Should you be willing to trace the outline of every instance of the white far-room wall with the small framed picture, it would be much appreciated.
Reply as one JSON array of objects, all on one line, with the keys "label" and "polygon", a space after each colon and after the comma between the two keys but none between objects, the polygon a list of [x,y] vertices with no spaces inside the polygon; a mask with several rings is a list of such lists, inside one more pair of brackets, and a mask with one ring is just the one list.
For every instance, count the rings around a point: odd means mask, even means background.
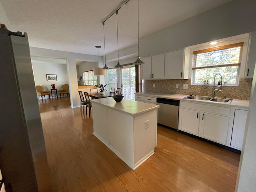
[{"label": "white far-room wall with the small framed picture", "polygon": [[[55,84],[57,90],[62,89],[62,85],[68,84],[68,71],[65,64],[38,63],[32,62],[34,79],[36,85],[41,85],[44,90],[51,90],[51,84]],[[57,75],[57,81],[47,81],[46,74]],[[52,92],[55,95],[55,92]],[[48,96],[46,96],[47,98]]]}]

